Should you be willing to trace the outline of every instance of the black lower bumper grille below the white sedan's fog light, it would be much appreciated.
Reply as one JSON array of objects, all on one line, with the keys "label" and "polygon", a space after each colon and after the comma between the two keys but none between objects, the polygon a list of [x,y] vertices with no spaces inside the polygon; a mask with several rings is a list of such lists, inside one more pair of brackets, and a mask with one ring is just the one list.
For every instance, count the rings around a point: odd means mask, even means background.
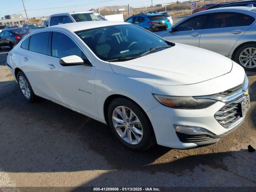
[{"label": "black lower bumper grille below the white sedan's fog light", "polygon": [[203,142],[213,139],[209,135],[205,134],[184,134],[176,132],[179,140],[184,143],[195,143],[195,142]]}]

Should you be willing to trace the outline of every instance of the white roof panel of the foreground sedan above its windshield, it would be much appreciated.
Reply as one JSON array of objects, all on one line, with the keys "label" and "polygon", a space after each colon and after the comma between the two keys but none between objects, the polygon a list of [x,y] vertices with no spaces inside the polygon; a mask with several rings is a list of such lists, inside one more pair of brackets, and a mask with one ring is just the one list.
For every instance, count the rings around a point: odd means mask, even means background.
[{"label": "white roof panel of the foreground sedan above its windshield", "polygon": [[118,21],[84,21],[84,22],[74,22],[74,23],[54,25],[44,29],[50,30],[50,29],[62,28],[62,29],[67,29],[72,32],[75,32],[75,31],[81,31],[86,29],[93,29],[93,28],[113,26],[113,25],[124,25],[124,24],[130,25],[130,23],[118,22]]}]

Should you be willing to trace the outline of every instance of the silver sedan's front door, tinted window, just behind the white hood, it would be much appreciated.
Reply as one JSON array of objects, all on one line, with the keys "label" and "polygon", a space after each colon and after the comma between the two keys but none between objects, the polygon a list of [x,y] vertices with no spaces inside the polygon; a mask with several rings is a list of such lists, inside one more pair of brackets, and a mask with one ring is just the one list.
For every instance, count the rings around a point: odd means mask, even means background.
[{"label": "silver sedan's front door, tinted window, just behind the white hood", "polygon": [[188,18],[184,22],[175,26],[172,31],[163,37],[172,42],[199,46],[199,39],[204,27],[208,24],[210,14],[201,14]]}]

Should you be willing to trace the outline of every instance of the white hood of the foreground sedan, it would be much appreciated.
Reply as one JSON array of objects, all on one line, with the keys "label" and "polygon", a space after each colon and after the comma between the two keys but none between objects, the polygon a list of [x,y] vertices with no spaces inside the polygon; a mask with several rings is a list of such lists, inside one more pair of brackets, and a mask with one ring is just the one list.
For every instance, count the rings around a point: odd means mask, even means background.
[{"label": "white hood of the foreground sedan", "polygon": [[210,80],[232,69],[232,61],[220,54],[178,44],[125,62],[110,62],[112,70],[128,78],[161,85],[186,85]]}]

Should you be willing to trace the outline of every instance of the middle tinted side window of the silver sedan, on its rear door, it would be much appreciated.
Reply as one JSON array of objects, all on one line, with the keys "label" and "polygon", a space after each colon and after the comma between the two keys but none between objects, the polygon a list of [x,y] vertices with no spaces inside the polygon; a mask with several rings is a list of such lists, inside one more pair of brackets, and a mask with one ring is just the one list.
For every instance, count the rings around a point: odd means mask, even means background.
[{"label": "middle tinted side window of the silver sedan, on its rear door", "polygon": [[235,19],[236,13],[233,12],[213,13],[208,28],[233,27]]}]

